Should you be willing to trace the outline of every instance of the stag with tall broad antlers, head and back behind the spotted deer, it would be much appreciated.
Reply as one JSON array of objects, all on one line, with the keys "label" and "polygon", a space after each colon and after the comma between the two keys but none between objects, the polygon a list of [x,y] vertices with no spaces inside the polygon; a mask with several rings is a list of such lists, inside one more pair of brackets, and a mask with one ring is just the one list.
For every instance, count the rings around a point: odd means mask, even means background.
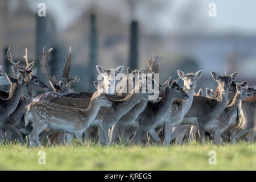
[{"label": "stag with tall broad antlers, head and back behind the spotted deer", "polygon": [[60,81],[57,80],[55,76],[52,77],[49,75],[47,60],[49,55],[51,54],[52,48],[50,48],[48,51],[45,51],[45,49],[46,47],[43,48],[43,53],[40,58],[40,67],[42,70],[42,74],[46,75],[47,78],[49,79],[49,84],[51,85],[54,92],[47,92],[44,94],[40,94],[38,97],[34,98],[33,101],[50,101],[57,97],[63,96],[64,94],[75,92],[73,90],[73,87],[76,86],[80,80],[80,78],[77,78],[77,76],[73,78],[69,78],[69,72],[71,69],[71,56],[72,56],[71,47],[69,47],[69,53],[68,53],[68,56],[66,57],[66,63],[63,69],[63,75],[61,76],[65,78],[67,84],[65,84],[61,80]]}]

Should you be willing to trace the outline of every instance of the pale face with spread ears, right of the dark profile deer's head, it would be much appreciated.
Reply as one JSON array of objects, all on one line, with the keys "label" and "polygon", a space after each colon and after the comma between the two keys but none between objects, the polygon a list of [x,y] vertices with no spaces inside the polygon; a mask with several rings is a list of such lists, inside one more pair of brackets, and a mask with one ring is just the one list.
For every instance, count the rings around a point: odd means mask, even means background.
[{"label": "pale face with spread ears, right of the dark profile deer's head", "polygon": [[184,81],[184,87],[187,90],[196,89],[196,82],[199,78],[201,78],[203,73],[204,73],[203,70],[196,72],[196,74],[194,73],[185,74],[183,71],[180,71],[180,70],[177,71],[177,74],[179,75],[179,77]]}]

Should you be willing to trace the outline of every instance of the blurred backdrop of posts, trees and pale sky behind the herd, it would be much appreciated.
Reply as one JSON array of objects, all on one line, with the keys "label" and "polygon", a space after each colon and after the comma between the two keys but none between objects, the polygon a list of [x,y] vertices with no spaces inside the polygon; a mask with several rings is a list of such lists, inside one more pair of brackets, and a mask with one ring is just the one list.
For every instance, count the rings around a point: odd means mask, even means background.
[{"label": "blurred backdrop of posts, trees and pale sky behind the herd", "polygon": [[[39,3],[46,17],[39,17]],[[209,3],[217,16],[210,17]],[[13,47],[13,59],[36,61],[42,48],[53,48],[51,75],[62,75],[65,57],[72,47],[70,77],[81,78],[77,92],[94,91],[96,64],[105,69],[147,68],[152,52],[163,55],[160,82],[177,78],[177,69],[204,75],[197,89],[213,88],[210,71],[233,73],[237,81],[256,85],[256,1],[247,0],[1,0],[0,64],[11,74],[5,52]],[[180,83],[182,85],[182,83]]]}]

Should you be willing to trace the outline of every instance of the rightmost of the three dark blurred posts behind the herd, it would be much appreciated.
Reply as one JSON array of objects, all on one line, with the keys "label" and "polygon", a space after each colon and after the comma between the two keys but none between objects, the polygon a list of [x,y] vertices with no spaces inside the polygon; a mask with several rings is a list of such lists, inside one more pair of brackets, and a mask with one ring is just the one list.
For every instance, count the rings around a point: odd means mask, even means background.
[{"label": "rightmost of the three dark blurred posts behind the herd", "polygon": [[130,54],[129,54],[129,67],[132,69],[137,69],[138,67],[138,34],[139,27],[138,22],[131,21],[130,27]]}]

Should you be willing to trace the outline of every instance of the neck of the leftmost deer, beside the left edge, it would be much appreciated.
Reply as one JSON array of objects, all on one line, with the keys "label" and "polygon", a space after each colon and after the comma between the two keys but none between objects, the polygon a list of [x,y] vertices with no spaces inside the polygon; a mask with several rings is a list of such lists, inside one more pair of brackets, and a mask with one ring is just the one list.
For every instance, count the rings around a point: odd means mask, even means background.
[{"label": "neck of the leftmost deer, beside the left edge", "polygon": [[22,93],[17,85],[11,85],[9,97],[5,100],[6,109],[8,113],[12,113],[19,104]]}]

